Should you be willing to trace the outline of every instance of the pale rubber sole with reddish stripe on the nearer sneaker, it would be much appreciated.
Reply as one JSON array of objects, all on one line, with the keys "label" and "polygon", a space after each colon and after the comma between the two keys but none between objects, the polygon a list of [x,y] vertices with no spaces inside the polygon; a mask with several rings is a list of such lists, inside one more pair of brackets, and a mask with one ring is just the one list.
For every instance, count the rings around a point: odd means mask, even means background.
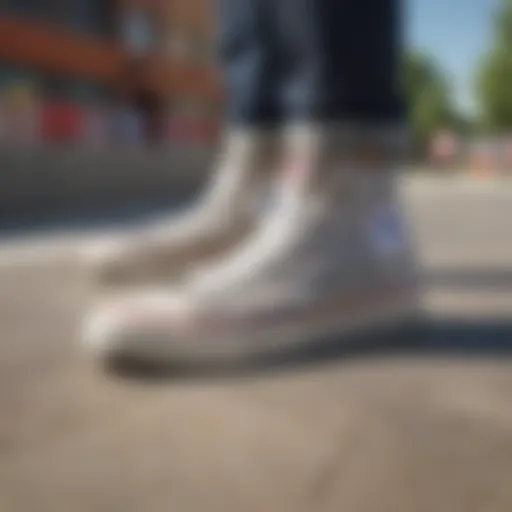
[{"label": "pale rubber sole with reddish stripe on the nearer sneaker", "polygon": [[112,334],[106,343],[88,345],[96,358],[125,359],[147,365],[224,364],[300,350],[324,339],[350,343],[360,335],[388,332],[420,318],[416,294],[412,290],[383,297],[360,297],[358,303],[345,302],[339,308],[315,308],[315,315],[297,312],[287,319],[255,321],[223,328],[204,327],[193,332],[167,329],[152,333]]}]

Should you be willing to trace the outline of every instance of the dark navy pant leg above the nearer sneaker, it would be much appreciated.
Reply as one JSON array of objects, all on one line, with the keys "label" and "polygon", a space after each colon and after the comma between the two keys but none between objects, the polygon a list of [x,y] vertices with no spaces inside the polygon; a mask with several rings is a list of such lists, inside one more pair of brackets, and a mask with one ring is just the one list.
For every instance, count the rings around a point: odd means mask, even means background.
[{"label": "dark navy pant leg above the nearer sneaker", "polygon": [[274,2],[285,53],[281,95],[289,119],[402,119],[401,0]]}]

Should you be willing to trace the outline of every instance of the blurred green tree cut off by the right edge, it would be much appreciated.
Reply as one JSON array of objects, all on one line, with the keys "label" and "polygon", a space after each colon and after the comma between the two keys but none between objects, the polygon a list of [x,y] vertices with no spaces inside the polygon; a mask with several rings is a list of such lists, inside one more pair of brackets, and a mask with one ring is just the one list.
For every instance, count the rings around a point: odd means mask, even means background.
[{"label": "blurred green tree cut off by the right edge", "polygon": [[490,133],[512,129],[512,0],[501,0],[494,41],[476,77],[482,128]]}]

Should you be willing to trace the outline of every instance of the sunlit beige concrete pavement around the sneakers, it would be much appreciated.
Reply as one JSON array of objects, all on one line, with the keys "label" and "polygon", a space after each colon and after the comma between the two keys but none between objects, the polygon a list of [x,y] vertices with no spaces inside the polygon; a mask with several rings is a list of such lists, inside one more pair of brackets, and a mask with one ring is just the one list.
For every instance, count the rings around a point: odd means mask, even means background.
[{"label": "sunlit beige concrete pavement around the sneakers", "polygon": [[428,355],[114,378],[73,345],[83,270],[4,247],[0,510],[510,512],[512,360],[443,346],[512,346],[512,188],[413,180],[404,196],[447,323]]}]

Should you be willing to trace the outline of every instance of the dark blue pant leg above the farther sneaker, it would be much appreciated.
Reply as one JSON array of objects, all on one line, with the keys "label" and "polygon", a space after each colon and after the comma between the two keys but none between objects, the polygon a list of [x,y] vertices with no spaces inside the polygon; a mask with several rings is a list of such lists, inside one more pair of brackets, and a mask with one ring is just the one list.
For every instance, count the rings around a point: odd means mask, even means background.
[{"label": "dark blue pant leg above the farther sneaker", "polygon": [[217,0],[219,50],[228,123],[273,126],[282,121],[274,3],[280,0]]}]

